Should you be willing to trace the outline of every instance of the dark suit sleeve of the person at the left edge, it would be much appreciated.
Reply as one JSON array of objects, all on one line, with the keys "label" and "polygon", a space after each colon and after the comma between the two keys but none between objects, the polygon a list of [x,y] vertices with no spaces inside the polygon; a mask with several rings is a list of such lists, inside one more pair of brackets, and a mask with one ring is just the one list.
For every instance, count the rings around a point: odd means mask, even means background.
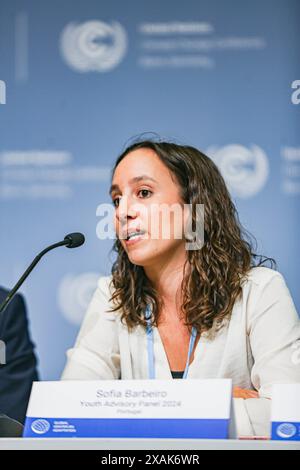
[{"label": "dark suit sleeve of the person at the left edge", "polygon": [[[7,291],[0,288],[0,304],[6,295]],[[0,314],[0,340],[2,346],[5,345],[6,356],[5,363],[0,364],[0,414],[23,423],[32,382],[38,380],[38,373],[26,306],[21,295],[16,295]]]}]

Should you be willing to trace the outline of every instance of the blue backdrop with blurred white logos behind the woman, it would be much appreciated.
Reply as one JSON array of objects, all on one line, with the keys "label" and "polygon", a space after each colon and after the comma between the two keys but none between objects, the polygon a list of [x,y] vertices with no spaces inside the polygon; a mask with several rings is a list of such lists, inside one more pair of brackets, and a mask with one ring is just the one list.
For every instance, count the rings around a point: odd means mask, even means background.
[{"label": "blue backdrop with blurred white logos behind the woman", "polygon": [[96,208],[142,132],[216,161],[300,310],[299,18],[298,0],[0,1],[0,283],[66,233],[87,238],[22,290],[43,379],[110,273]]}]

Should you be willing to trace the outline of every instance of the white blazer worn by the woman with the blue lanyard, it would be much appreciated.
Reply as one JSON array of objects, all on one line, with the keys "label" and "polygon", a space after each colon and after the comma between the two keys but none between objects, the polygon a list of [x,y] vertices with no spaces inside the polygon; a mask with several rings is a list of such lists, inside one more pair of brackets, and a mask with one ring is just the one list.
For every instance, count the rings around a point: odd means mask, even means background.
[{"label": "white blazer worn by the woman with the blue lanyard", "polygon": [[[146,332],[138,326],[130,333],[119,312],[107,312],[110,280],[99,279],[67,351],[63,380],[148,379]],[[172,380],[158,329],[153,333],[156,378]],[[299,339],[299,317],[283,276],[252,268],[229,324],[214,339],[201,336],[187,379],[231,378],[234,386],[257,390],[260,398],[234,399],[238,435],[269,435],[272,384],[300,382]]]}]

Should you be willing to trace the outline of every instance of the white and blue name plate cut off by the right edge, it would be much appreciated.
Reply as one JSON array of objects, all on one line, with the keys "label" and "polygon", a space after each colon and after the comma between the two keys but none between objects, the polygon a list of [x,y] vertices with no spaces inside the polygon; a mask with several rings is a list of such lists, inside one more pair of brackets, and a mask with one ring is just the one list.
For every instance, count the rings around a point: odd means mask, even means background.
[{"label": "white and blue name plate cut off by the right edge", "polygon": [[272,387],[272,439],[300,441],[300,383]]}]

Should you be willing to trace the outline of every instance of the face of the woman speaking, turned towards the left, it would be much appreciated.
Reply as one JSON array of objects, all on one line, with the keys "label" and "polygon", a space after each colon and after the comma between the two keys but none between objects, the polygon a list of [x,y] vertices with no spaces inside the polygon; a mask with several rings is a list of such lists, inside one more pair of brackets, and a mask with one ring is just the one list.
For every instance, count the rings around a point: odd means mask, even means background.
[{"label": "face of the woman speaking, turned towards the left", "polygon": [[[180,187],[153,150],[137,149],[123,158],[113,175],[111,197],[116,235],[133,264],[146,267],[174,256],[179,261],[179,253],[185,256]],[[141,234],[127,241],[136,231]]]}]

